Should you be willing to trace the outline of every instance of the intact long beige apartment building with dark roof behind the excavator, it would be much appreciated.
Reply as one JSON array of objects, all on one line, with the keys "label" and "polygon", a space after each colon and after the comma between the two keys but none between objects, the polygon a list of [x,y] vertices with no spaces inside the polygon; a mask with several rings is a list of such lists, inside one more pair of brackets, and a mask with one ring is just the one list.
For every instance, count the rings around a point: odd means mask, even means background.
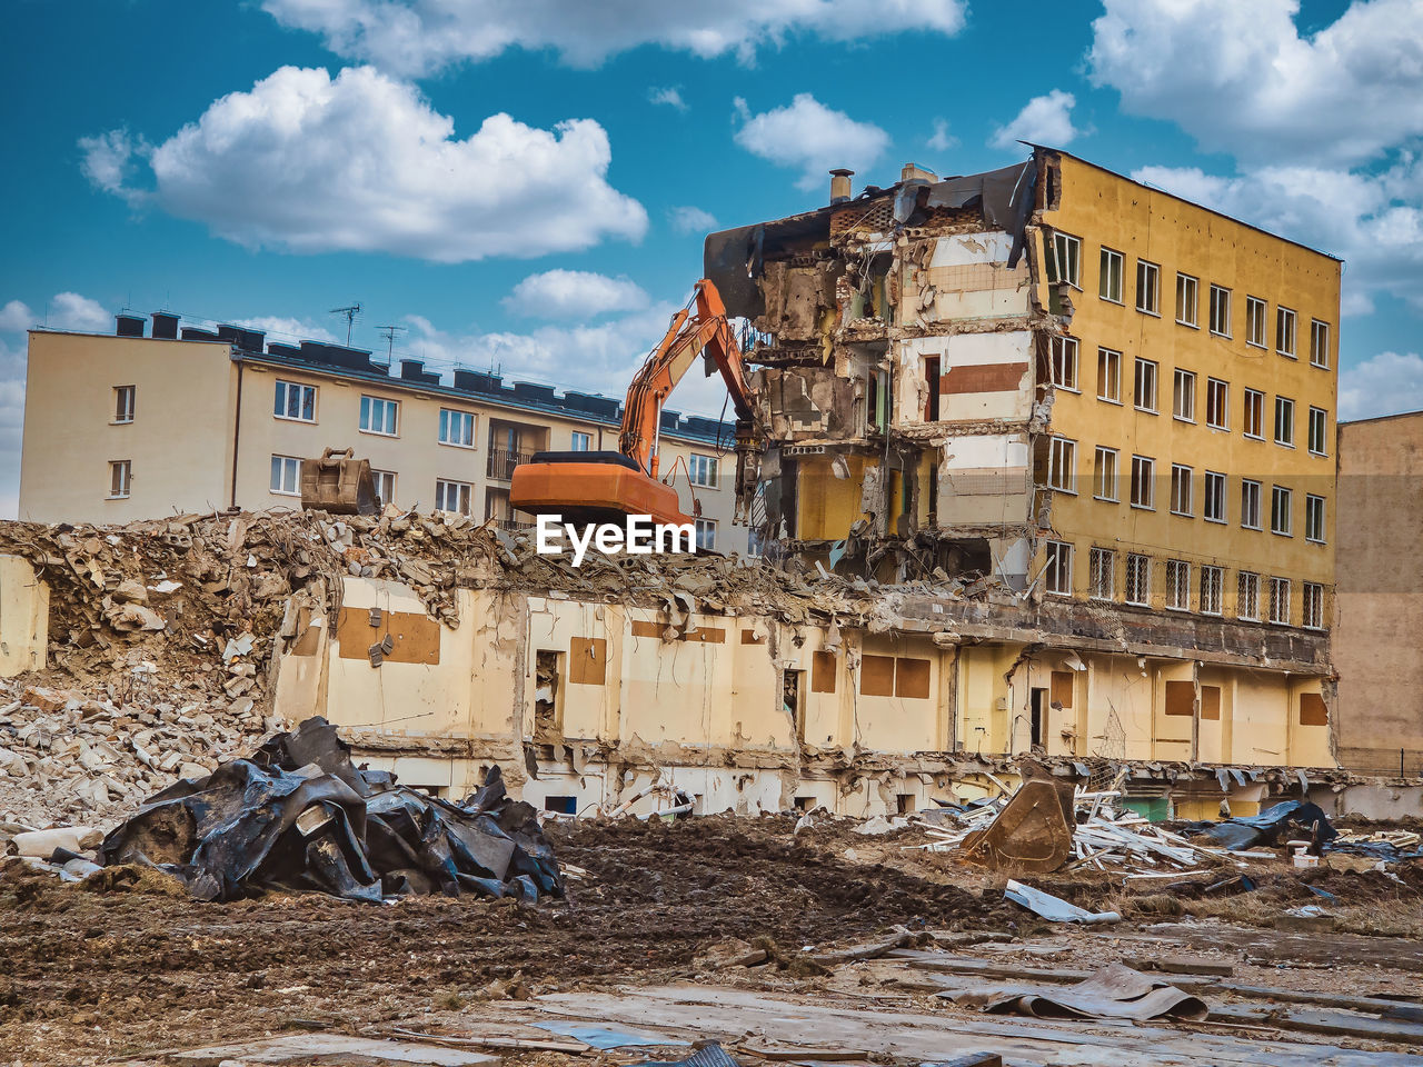
[{"label": "intact long beige apartment building with dark roof behind the excavator", "polygon": [[[471,370],[447,380],[418,360],[387,367],[359,349],[168,313],[145,327],[121,314],[114,334],[30,333],[21,519],[300,508],[302,460],[350,447],[370,460],[383,501],[515,528],[531,521],[509,506],[519,462],[616,448],[622,407],[609,397]],[[733,445],[730,424],[662,414],[662,471],[699,542],[744,552]]]}]

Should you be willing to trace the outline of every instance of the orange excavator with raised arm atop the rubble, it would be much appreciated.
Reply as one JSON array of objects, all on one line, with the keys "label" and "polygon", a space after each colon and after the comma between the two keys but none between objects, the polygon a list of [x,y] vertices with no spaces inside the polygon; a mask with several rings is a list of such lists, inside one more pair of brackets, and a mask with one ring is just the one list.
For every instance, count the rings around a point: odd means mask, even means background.
[{"label": "orange excavator with raised arm atop the rubble", "polygon": [[672,316],[667,333],[628,387],[618,451],[535,452],[514,468],[509,504],[535,515],[559,514],[572,522],[622,522],[650,515],[655,522],[692,522],[677,491],[657,479],[662,405],[699,354],[721,371],[736,408],[736,499],[741,518],[756,491],[763,451],[756,407],[746,384],[741,349],[726,306],[710,280]]}]

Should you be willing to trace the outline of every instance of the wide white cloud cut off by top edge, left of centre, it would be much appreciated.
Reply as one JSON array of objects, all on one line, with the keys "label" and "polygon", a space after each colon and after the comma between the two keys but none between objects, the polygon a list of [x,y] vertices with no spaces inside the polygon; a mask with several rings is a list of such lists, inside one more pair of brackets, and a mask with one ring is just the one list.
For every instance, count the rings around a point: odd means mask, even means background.
[{"label": "wide white cloud cut off by top edge, left of centre", "polygon": [[965,16],[963,0],[262,0],[262,7],[283,26],[320,34],[339,55],[413,75],[509,48],[551,48],[578,67],[645,44],[751,63],[760,46],[797,34],[952,36]]}]

